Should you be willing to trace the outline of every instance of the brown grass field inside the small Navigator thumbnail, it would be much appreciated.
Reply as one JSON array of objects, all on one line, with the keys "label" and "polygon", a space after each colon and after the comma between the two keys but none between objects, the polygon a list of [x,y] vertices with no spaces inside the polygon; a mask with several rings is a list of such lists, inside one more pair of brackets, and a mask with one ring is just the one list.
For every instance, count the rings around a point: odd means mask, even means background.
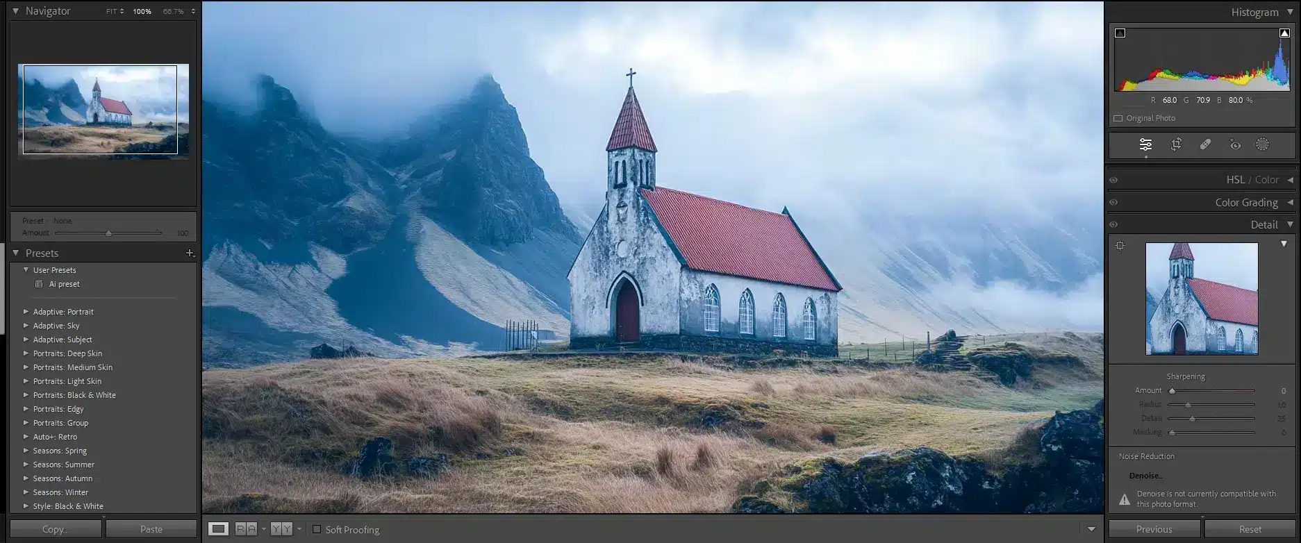
[{"label": "brown grass field inside the small Navigator thumbnail", "polygon": [[[189,123],[181,123],[181,134]],[[174,123],[154,126],[86,126],[55,125],[18,129],[18,142],[23,153],[112,153],[133,143],[159,143],[176,134]]]}]

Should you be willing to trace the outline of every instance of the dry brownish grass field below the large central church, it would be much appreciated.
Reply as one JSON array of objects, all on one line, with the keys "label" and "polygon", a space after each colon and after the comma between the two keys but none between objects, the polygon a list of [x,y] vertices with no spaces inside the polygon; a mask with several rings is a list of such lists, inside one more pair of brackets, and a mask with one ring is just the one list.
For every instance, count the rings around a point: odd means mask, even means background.
[{"label": "dry brownish grass field below the large central church", "polygon": [[[928,446],[997,464],[1033,421],[1101,398],[1097,364],[1037,369],[1017,387],[835,360],[739,369],[658,355],[208,370],[204,509],[721,512],[738,488],[801,459]],[[453,468],[433,479],[341,475],[375,436],[392,438],[398,457],[449,453]]]}]

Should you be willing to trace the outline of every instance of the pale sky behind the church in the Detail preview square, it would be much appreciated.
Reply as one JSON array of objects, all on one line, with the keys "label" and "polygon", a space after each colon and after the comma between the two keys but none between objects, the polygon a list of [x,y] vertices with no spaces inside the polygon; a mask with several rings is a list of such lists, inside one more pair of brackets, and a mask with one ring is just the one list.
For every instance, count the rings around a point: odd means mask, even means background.
[{"label": "pale sky behind the church in the Detail preview square", "polygon": [[[1189,243],[1193,249],[1193,277],[1257,290],[1255,243]],[[1160,300],[1170,283],[1170,251],[1174,243],[1147,244],[1147,291]]]}]

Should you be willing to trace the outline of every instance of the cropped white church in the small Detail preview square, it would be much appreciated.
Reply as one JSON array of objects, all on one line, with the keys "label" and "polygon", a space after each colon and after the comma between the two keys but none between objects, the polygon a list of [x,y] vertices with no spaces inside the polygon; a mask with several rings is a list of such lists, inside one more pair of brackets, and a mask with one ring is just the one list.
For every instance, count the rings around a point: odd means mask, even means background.
[{"label": "cropped white church in the small Detail preview square", "polygon": [[1253,290],[1194,275],[1193,249],[1170,251],[1170,282],[1151,316],[1151,355],[1255,355],[1257,295]]}]

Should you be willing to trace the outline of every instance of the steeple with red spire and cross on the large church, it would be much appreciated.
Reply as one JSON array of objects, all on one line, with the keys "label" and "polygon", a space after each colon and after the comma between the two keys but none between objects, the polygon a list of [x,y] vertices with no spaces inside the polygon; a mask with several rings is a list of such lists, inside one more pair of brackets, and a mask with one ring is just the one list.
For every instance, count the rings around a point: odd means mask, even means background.
[{"label": "steeple with red spire and cross on the large church", "polygon": [[636,71],[628,69],[628,94],[623,96],[623,107],[619,117],[614,121],[614,130],[610,131],[610,142],[605,145],[606,153],[606,183],[608,190],[623,187],[654,188],[654,138],[650,138],[650,127],[641,113],[641,103],[632,90],[632,75]]}]

